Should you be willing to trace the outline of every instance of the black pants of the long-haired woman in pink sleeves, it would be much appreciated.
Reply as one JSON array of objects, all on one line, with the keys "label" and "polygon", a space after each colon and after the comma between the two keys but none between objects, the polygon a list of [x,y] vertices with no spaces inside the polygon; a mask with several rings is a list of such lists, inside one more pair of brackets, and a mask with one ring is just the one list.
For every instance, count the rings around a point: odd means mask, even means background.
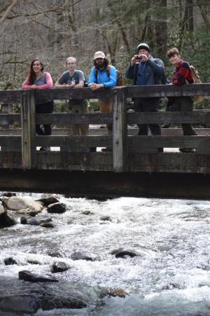
[{"label": "black pants of the long-haired woman in pink sleeves", "polygon": [[[37,114],[48,114],[53,111],[54,102],[49,101],[42,104],[36,104]],[[36,124],[36,134],[38,135],[51,135],[52,129],[50,124],[44,124],[41,128],[40,124]]]}]

